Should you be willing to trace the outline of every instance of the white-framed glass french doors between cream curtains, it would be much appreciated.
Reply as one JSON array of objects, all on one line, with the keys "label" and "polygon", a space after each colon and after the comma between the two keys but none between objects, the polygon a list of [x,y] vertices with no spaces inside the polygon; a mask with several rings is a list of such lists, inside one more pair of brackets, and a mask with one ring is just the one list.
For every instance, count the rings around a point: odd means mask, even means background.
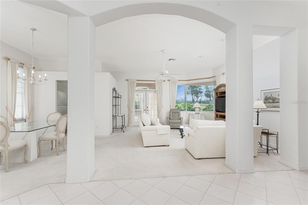
[{"label": "white-framed glass french doors between cream curtains", "polygon": [[136,91],[134,126],[139,125],[140,115],[144,112],[152,116],[152,118],[157,118],[158,111],[156,91]]}]

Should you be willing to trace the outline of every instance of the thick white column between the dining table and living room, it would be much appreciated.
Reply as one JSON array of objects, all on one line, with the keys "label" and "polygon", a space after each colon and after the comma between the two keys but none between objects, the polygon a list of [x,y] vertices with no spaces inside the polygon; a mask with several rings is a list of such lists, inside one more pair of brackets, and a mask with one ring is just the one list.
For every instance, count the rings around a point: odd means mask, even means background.
[{"label": "thick white column between the dining table and living room", "polygon": [[95,26],[68,16],[66,183],[88,182],[94,167]]}]

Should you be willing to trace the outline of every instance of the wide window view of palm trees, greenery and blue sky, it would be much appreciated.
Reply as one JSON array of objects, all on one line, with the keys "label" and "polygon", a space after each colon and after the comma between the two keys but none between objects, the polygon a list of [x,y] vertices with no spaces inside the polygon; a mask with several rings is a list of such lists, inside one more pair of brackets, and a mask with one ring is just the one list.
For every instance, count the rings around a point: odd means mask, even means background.
[{"label": "wide window view of palm trees, greenery and blue sky", "polygon": [[200,111],[214,111],[214,88],[215,86],[178,85],[175,108],[181,111],[195,111],[193,105],[199,102]]}]

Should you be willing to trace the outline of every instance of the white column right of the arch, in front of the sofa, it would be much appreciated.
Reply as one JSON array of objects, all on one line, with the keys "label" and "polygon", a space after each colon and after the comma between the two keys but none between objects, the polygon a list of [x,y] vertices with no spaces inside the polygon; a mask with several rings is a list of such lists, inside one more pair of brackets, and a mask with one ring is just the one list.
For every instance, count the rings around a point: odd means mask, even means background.
[{"label": "white column right of the arch, in front of the sofa", "polygon": [[237,25],[226,34],[226,158],[236,173],[253,169],[252,25]]}]

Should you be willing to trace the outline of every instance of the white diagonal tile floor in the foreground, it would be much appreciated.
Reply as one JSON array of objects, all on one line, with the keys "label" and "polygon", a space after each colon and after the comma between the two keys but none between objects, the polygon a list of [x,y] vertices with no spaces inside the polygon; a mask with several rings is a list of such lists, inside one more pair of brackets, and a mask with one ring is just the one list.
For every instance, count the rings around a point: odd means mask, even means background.
[{"label": "white diagonal tile floor in the foreground", "polygon": [[308,171],[48,184],[1,204],[308,204]]}]

